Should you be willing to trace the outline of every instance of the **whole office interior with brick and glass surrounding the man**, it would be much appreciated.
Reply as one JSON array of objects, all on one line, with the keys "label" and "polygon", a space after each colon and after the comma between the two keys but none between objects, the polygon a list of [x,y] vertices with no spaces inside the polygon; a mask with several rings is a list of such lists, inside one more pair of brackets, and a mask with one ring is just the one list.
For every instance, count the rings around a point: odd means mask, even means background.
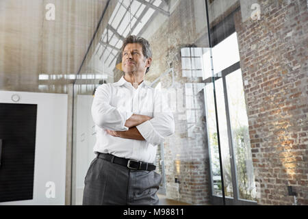
[{"label": "whole office interior with brick and glass surrounding the man", "polygon": [[129,35],[175,133],[159,205],[308,205],[307,0],[1,0],[0,205],[82,205]]}]

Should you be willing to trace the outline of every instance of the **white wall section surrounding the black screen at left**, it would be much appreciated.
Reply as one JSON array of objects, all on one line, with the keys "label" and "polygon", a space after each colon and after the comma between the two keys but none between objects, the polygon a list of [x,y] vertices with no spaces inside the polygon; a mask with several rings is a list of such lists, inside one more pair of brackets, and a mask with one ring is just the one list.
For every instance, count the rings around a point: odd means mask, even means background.
[{"label": "white wall section surrounding the black screen at left", "polygon": [[[34,163],[34,194],[32,200],[11,201],[0,205],[64,205],[66,174],[67,94],[12,92],[0,90],[0,103],[37,104],[36,150]],[[47,183],[52,182],[49,187]],[[53,185],[55,185],[53,187]],[[54,198],[47,197],[52,194]]]}]

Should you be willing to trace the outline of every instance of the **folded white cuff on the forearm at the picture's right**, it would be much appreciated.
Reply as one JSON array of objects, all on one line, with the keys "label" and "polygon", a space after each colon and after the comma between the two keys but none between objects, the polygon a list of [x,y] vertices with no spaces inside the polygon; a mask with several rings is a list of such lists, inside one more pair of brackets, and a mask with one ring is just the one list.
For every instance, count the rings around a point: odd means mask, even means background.
[{"label": "folded white cuff on the forearm at the picture's right", "polygon": [[147,120],[146,122],[137,125],[136,128],[146,142],[149,142],[150,144],[161,144],[165,140],[165,138],[154,129],[151,120]]}]

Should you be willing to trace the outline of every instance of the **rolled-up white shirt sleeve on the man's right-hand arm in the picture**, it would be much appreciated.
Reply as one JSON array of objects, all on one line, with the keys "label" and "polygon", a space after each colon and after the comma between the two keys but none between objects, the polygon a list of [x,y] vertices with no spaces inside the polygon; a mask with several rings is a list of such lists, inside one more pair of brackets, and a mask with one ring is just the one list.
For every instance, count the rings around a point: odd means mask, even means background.
[{"label": "rolled-up white shirt sleeve on the man's right-hand arm in the picture", "polygon": [[175,133],[175,120],[161,92],[155,92],[153,118],[136,126],[142,137],[150,144],[164,142],[165,137]]}]

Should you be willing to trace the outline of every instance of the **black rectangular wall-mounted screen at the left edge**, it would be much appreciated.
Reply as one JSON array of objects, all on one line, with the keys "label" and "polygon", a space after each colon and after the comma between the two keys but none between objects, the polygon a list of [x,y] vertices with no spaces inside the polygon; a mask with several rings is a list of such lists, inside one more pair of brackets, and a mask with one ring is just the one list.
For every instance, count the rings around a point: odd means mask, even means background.
[{"label": "black rectangular wall-mounted screen at the left edge", "polygon": [[33,199],[37,108],[0,103],[0,202]]}]

